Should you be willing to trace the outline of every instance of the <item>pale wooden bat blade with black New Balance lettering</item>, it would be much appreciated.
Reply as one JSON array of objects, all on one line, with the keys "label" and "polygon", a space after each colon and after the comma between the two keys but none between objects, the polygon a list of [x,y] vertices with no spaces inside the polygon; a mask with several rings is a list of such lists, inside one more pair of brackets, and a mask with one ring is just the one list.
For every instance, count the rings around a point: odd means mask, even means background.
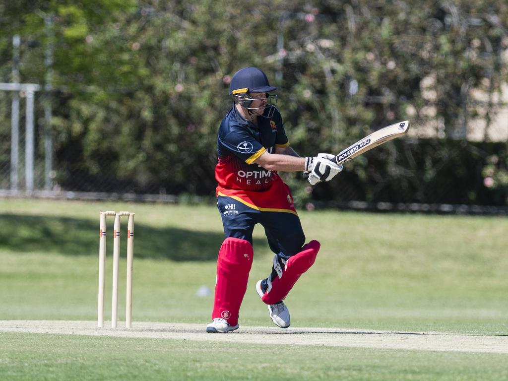
[{"label": "pale wooden bat blade with black New Balance lettering", "polygon": [[335,162],[339,165],[348,162],[356,156],[370,151],[372,148],[404,135],[407,133],[407,130],[409,130],[409,120],[397,122],[377,130],[342,150],[335,156]]}]

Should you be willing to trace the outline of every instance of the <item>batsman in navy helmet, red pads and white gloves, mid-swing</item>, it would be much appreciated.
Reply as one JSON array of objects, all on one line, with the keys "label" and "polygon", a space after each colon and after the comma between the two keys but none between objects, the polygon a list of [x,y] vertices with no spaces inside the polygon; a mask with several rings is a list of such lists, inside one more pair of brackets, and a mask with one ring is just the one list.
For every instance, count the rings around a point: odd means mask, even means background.
[{"label": "batsman in navy helmet, red pads and white gloves, mid-swing", "polygon": [[342,166],[329,160],[333,154],[301,157],[291,148],[275,107],[277,96],[271,94],[276,89],[258,68],[243,68],[231,80],[233,106],[218,129],[215,167],[217,207],[226,239],[218,252],[212,322],[207,332],[226,333],[239,327],[256,224],[265,229],[275,253],[271,271],[256,283],[256,292],[280,328],[291,324],[284,298],[312,266],[320,249],[315,240],[305,244],[290,189],[277,172],[303,171],[315,185],[331,180]]}]

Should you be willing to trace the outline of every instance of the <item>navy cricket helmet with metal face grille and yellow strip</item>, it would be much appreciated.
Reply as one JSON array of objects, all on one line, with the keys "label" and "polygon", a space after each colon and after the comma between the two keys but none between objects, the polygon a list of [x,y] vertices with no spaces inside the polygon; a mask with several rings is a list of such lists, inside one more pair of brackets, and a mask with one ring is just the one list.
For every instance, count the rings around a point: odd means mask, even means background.
[{"label": "navy cricket helmet with metal face grille and yellow strip", "polygon": [[[270,85],[266,74],[262,70],[248,67],[240,69],[235,73],[231,79],[229,94],[233,96],[235,103],[240,104],[247,110],[267,108],[268,110],[265,110],[263,116],[270,118],[275,111],[277,96],[271,95],[268,92],[276,89],[277,87]],[[252,98],[252,92],[264,92],[266,93],[266,98]],[[252,102],[256,100],[266,100],[266,103],[262,107],[250,107]]]}]

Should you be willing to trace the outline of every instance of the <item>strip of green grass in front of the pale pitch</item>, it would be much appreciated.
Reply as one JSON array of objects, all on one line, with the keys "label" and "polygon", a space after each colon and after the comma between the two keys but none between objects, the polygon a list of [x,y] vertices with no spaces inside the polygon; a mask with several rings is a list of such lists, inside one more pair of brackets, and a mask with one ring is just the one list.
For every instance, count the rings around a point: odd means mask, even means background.
[{"label": "strip of green grass in front of the pale pitch", "polygon": [[3,379],[504,380],[506,355],[0,334]]}]

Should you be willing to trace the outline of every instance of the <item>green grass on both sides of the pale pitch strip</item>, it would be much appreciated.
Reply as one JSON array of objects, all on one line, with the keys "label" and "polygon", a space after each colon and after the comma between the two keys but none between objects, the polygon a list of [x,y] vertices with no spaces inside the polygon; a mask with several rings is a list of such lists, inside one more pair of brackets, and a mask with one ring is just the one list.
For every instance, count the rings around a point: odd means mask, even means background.
[{"label": "green grass on both sides of the pale pitch strip", "polygon": [[[97,318],[99,211],[106,209],[136,212],[133,320],[204,328],[213,296],[197,291],[213,290],[223,241],[214,205],[0,199],[0,320]],[[343,211],[302,211],[300,217],[307,240],[321,241],[322,249],[286,300],[292,327],[508,334],[505,217]],[[106,320],[112,221],[108,229]],[[123,257],[125,231],[126,220]],[[253,289],[273,256],[261,227],[254,249],[240,327],[271,326]],[[124,260],[120,266],[122,320]],[[508,362],[494,354],[63,335],[0,333],[0,342],[7,343],[0,345],[0,374],[7,379],[143,379],[145,364],[151,373],[144,379],[271,379],[279,366],[274,379],[499,380],[507,377],[500,364]],[[33,369],[39,377],[30,376]]]}]

